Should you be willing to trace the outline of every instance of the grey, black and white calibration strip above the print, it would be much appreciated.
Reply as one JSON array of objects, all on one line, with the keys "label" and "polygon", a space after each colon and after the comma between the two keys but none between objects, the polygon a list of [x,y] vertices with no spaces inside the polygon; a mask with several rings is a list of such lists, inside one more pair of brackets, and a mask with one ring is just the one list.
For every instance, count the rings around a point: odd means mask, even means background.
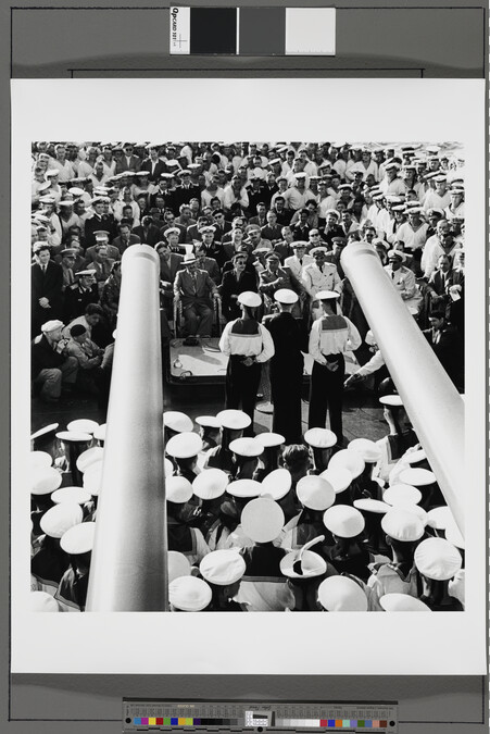
[{"label": "grey, black and white calibration strip above the print", "polygon": [[335,55],[335,8],[171,7],[177,55]]}]

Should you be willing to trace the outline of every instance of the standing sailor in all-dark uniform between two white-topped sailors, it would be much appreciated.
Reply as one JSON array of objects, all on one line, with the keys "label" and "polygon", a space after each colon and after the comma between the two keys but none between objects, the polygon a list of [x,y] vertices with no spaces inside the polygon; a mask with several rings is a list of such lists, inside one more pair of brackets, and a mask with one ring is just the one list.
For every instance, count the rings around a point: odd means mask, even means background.
[{"label": "standing sailor in all-dark uniform between two white-topped sailors", "polygon": [[275,290],[274,300],[279,307],[279,313],[264,316],[262,322],[274,343],[274,356],[269,363],[273,431],[281,434],[287,445],[299,444],[302,434],[302,352],[307,349],[307,334],[304,322],[292,314],[298,294],[292,289],[279,288]]}]

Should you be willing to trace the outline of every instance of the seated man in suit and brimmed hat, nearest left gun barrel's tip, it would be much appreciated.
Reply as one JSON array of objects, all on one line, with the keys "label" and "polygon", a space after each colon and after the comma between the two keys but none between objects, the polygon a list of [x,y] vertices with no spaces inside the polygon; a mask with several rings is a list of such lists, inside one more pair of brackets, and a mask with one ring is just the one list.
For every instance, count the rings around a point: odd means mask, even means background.
[{"label": "seated man in suit and brimmed hat, nearest left gun barrel's tip", "polygon": [[196,346],[197,334],[201,336],[211,336],[213,326],[213,302],[212,298],[217,298],[217,288],[211,279],[209,273],[198,270],[198,263],[193,254],[186,254],[184,258],[185,270],[177,273],[174,283],[175,301],[181,301],[185,329],[187,338],[186,346]]}]

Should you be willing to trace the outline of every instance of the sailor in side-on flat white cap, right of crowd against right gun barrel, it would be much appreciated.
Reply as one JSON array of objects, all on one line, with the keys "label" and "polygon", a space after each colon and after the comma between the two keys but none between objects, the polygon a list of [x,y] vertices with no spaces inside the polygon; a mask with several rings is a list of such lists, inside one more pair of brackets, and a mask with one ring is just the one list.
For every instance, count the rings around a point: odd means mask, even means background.
[{"label": "sailor in side-on flat white cap, right of crowd against right gun barrel", "polygon": [[[407,415],[399,395],[384,395],[379,398],[379,402],[382,405],[382,415],[390,433],[376,441],[381,451],[376,474],[382,482],[388,482],[394,464],[410,447],[418,443],[418,438],[412,425],[406,426]],[[405,424],[404,430],[403,424]]]}]

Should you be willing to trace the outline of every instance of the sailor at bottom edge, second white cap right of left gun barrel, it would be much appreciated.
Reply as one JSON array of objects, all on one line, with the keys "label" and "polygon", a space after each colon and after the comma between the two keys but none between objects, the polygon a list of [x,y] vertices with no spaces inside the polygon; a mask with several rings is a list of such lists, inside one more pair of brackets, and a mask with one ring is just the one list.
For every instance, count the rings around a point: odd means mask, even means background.
[{"label": "sailor at bottom edge, second white cap right of left gun barrel", "polygon": [[213,593],[211,611],[242,611],[235,597],[246,568],[243,557],[235,548],[213,550],[201,561],[199,571]]}]

